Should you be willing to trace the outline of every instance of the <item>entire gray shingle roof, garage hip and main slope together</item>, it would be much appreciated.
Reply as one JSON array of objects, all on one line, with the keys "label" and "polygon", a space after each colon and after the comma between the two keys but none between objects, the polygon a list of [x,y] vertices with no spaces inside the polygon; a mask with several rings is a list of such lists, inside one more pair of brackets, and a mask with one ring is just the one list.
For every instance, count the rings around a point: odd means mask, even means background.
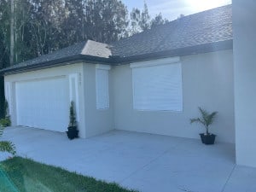
[{"label": "entire gray shingle roof, garage hip and main slope together", "polygon": [[[203,47],[206,44],[209,48],[209,44],[210,47],[213,47],[213,44],[216,43],[232,41],[232,38],[232,5],[227,5],[195,15],[184,16],[112,44],[102,44],[90,40],[74,44],[51,54],[5,68],[0,73],[24,70],[29,67],[46,67],[65,61],[87,60],[88,58],[90,61],[102,59],[115,64],[114,62],[120,62],[122,58],[128,60],[136,56],[142,58],[143,55],[157,55],[157,53],[166,53],[166,51],[179,50],[176,51],[176,55],[185,55],[190,52],[182,54],[181,51],[184,51],[184,48],[197,47],[196,49],[198,49],[198,46]],[[232,48],[230,44],[224,46]],[[216,47],[219,49],[218,46]],[[120,59],[114,60],[113,58]]]}]

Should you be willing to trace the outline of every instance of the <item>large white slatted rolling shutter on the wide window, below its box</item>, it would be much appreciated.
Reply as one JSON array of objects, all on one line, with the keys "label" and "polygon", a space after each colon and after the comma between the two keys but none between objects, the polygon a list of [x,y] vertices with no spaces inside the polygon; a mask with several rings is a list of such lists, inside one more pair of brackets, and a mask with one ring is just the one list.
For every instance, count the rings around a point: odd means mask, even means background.
[{"label": "large white slatted rolling shutter on the wide window, below its box", "polygon": [[132,67],[133,107],[183,111],[181,63]]}]

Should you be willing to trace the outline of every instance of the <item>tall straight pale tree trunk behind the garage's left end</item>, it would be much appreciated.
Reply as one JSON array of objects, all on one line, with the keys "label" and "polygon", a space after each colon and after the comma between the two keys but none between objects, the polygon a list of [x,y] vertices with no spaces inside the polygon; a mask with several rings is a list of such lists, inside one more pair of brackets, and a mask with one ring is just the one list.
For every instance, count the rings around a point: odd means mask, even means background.
[{"label": "tall straight pale tree trunk behind the garage's left end", "polygon": [[15,55],[15,0],[10,0],[10,45],[9,45],[9,65],[14,65]]}]

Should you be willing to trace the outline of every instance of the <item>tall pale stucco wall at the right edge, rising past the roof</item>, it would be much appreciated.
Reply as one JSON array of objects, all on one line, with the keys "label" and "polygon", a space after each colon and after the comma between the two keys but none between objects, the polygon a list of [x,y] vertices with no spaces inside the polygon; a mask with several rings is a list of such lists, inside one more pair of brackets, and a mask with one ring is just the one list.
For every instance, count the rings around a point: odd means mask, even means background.
[{"label": "tall pale stucco wall at the right edge, rising past the roof", "polygon": [[233,0],[236,163],[256,167],[256,2]]}]

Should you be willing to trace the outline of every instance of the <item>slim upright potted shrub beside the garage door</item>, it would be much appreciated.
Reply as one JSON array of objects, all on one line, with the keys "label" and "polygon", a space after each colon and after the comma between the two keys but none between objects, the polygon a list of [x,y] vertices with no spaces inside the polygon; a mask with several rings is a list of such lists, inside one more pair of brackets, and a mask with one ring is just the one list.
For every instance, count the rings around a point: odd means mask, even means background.
[{"label": "slim upright potted shrub beside the garage door", "polygon": [[67,127],[67,137],[69,139],[74,139],[74,138],[79,137],[79,131],[78,131],[78,127],[77,127],[76,115],[75,115],[75,110],[74,110],[74,102],[70,103],[69,125]]}]

